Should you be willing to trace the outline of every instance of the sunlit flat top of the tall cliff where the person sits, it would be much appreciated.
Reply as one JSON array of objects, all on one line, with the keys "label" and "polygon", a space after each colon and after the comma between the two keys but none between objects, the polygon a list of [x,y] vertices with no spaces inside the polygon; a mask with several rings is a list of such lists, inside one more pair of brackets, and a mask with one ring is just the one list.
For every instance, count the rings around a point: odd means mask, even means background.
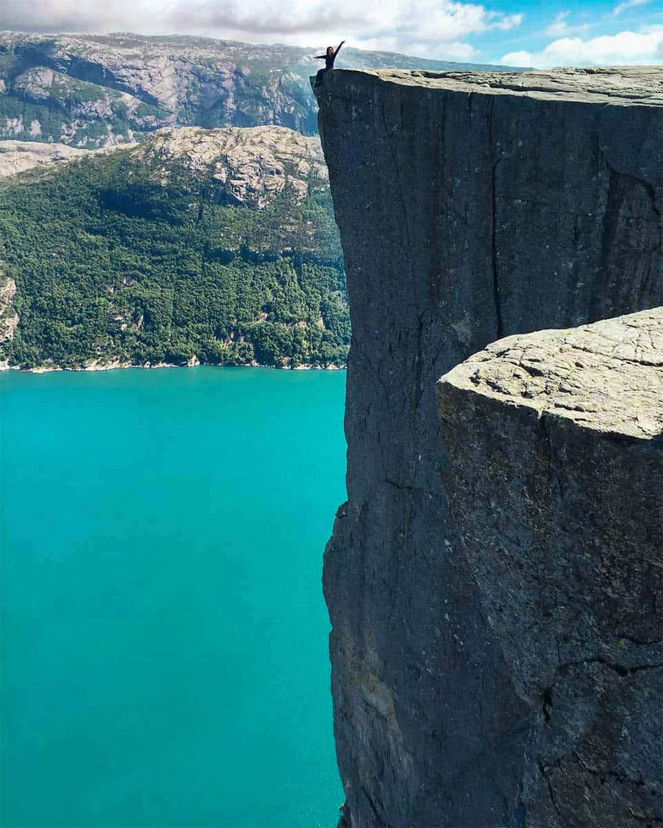
[{"label": "sunlit flat top of the tall cliff where the person sits", "polygon": [[[358,70],[338,70],[340,73]],[[663,107],[663,66],[608,66],[526,72],[426,72],[362,70],[392,84],[484,94],[521,94],[539,99]]]}]

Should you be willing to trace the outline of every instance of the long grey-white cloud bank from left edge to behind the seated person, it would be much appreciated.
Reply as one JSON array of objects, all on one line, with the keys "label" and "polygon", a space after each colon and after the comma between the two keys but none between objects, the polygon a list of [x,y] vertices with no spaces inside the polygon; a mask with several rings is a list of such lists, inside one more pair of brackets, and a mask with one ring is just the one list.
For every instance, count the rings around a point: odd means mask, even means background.
[{"label": "long grey-white cloud bank from left edge to behind the seated person", "polygon": [[519,26],[521,14],[466,0],[0,0],[0,29],[198,34],[348,46],[468,60],[468,36]]}]

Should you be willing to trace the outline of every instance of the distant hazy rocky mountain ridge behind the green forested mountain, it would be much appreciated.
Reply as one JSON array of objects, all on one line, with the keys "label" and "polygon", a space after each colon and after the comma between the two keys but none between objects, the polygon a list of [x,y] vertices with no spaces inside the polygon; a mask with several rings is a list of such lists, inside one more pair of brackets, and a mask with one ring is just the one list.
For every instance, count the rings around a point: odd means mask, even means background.
[{"label": "distant hazy rocky mountain ridge behind the green forested mountain", "polygon": [[[319,68],[313,54],[204,37],[0,32],[0,138],[94,148],[165,126],[262,124],[312,135],[309,77]],[[489,68],[345,47],[338,65]]]}]

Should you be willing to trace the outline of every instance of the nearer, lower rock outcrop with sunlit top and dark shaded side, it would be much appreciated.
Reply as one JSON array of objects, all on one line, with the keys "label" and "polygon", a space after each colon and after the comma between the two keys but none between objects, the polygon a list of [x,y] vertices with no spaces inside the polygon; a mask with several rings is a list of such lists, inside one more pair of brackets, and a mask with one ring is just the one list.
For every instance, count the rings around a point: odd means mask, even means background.
[{"label": "nearer, lower rock outcrop with sunlit top and dark shaded side", "polygon": [[524,824],[655,825],[663,309],[501,339],[437,397],[454,561],[529,716]]}]

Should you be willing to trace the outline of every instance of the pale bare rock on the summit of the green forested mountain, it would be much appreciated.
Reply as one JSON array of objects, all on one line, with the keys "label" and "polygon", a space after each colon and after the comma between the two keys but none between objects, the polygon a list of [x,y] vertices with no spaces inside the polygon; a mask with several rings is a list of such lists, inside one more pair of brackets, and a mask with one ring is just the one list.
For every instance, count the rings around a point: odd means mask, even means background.
[{"label": "pale bare rock on the summit of the green forested mountain", "polygon": [[173,161],[194,176],[209,172],[238,203],[250,198],[259,207],[286,189],[301,200],[311,180],[327,184],[319,138],[285,127],[162,129],[136,154],[166,177]]}]

